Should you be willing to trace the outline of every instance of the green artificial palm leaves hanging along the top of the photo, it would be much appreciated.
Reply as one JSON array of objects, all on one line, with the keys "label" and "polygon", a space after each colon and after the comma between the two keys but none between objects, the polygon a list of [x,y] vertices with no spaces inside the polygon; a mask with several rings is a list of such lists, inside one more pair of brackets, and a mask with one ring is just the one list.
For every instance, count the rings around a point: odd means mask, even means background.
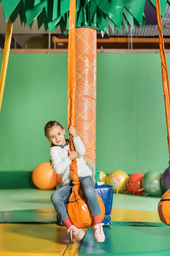
[{"label": "green artificial palm leaves hanging along the top of the photo", "polygon": [[[68,33],[68,18],[70,0],[0,0],[6,21],[11,17],[14,22],[20,16],[21,24],[32,26],[37,19],[38,28],[42,25],[45,31],[57,29]],[[155,7],[155,0],[149,0]],[[164,17],[167,3],[170,0],[161,0],[161,15]],[[77,0],[76,26],[88,26],[98,29],[102,35],[105,31],[109,35],[109,26],[121,32],[122,24],[128,29],[128,23],[134,29],[144,26],[145,0]]]}]

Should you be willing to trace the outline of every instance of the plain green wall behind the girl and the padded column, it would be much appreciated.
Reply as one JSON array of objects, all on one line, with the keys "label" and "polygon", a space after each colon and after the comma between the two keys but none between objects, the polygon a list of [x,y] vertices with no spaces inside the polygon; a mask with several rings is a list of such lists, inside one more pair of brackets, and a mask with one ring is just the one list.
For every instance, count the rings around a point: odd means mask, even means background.
[{"label": "plain green wall behind the girl and the padded column", "polygon": [[[49,160],[49,120],[66,128],[67,55],[11,54],[0,113],[0,171],[32,171]],[[159,54],[97,55],[96,120],[98,169],[164,172],[168,148]]]}]

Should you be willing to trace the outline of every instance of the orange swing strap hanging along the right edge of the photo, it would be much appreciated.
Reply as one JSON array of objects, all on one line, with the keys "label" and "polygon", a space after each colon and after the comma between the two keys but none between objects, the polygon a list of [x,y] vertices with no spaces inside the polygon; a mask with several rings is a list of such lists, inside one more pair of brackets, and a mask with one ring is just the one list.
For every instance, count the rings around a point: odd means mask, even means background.
[{"label": "orange swing strap hanging along the right edge of the photo", "polygon": [[[164,50],[164,40],[162,35],[162,25],[161,25],[161,8],[160,0],[156,0],[156,15],[158,20],[158,33],[159,33],[159,48],[161,55],[161,68],[162,68],[162,83],[164,89],[164,102],[166,111],[166,122],[167,122],[167,144],[170,156],[170,91],[169,91],[169,81],[167,73],[167,63],[165,58]],[[170,157],[169,157],[169,172],[170,172]]]}]

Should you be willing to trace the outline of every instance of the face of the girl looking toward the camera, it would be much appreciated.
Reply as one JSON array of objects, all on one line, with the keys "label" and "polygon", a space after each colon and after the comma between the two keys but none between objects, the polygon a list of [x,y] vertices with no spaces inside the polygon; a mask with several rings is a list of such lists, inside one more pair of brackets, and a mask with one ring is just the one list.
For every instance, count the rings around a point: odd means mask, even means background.
[{"label": "face of the girl looking toward the camera", "polygon": [[59,126],[55,125],[52,128],[48,129],[48,140],[51,141],[54,145],[65,145],[65,130]]}]

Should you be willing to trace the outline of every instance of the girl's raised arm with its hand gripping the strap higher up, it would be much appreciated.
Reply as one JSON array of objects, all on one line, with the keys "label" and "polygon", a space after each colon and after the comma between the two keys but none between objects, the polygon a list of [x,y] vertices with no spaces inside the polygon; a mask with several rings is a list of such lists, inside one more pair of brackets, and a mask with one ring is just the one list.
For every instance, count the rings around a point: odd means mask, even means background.
[{"label": "girl's raised arm with its hand gripping the strap higher up", "polygon": [[82,143],[82,140],[78,136],[76,129],[73,126],[70,126],[68,132],[73,136],[74,148],[78,154],[78,157],[83,157],[85,155],[86,149],[85,145]]}]

